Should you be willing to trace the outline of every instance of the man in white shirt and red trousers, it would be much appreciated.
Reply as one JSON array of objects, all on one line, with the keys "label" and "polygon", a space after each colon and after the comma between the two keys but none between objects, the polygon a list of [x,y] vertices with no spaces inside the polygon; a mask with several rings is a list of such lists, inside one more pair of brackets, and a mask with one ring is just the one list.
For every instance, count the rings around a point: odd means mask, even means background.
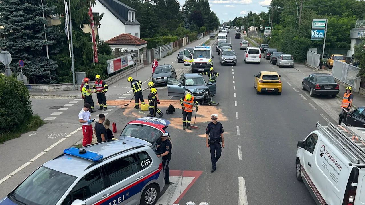
[{"label": "man in white shirt and red trousers", "polygon": [[82,146],[84,147],[90,145],[92,142],[93,129],[91,125],[91,114],[89,112],[90,109],[91,105],[86,103],[85,107],[78,113],[78,121],[82,123],[82,135],[84,136]]}]

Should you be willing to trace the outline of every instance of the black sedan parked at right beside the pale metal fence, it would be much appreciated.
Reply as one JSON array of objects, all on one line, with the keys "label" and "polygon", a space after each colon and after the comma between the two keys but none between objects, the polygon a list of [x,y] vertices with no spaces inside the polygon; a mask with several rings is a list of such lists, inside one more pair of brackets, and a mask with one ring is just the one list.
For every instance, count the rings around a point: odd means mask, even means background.
[{"label": "black sedan parked at right beside the pale metal fence", "polygon": [[331,74],[310,74],[301,82],[301,89],[309,90],[311,97],[317,94],[336,97],[340,92],[340,87]]}]

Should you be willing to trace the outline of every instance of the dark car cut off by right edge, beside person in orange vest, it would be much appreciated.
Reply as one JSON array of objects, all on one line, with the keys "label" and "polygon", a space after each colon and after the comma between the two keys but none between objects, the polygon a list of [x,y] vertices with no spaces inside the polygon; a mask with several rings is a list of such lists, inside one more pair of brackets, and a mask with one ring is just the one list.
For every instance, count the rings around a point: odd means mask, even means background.
[{"label": "dark car cut off by right edge, beside person in orange vest", "polygon": [[338,124],[341,122],[347,126],[365,127],[365,107],[360,107],[353,112],[346,112],[344,116],[338,117]]}]

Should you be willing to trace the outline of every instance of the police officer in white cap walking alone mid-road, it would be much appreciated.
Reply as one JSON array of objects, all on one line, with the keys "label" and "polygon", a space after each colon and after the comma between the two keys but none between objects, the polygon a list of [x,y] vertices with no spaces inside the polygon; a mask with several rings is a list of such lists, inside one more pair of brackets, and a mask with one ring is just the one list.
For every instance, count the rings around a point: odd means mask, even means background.
[{"label": "police officer in white cap walking alone mid-road", "polygon": [[[224,148],[224,129],[222,123],[217,121],[217,118],[217,114],[211,115],[212,122],[208,124],[207,130],[205,131],[207,147],[210,148],[210,157],[212,160],[212,170],[210,172],[215,171],[217,161],[222,154],[222,147]],[[220,146],[220,142],[222,142],[222,147]]]}]

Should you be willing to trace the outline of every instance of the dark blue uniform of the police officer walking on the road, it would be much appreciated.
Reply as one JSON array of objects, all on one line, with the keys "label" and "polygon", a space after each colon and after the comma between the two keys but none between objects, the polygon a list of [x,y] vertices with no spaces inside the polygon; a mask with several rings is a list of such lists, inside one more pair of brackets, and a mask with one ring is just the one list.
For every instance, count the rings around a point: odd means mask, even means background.
[{"label": "dark blue uniform of the police officer walking on the road", "polygon": [[[220,146],[220,142],[222,142],[222,138],[220,134],[223,133],[223,125],[220,122],[217,124],[209,123],[205,134],[209,134],[209,148],[210,148],[210,156],[212,160],[212,168],[215,170],[216,163],[222,154],[222,147]],[[216,155],[215,155],[216,152]]]}]

